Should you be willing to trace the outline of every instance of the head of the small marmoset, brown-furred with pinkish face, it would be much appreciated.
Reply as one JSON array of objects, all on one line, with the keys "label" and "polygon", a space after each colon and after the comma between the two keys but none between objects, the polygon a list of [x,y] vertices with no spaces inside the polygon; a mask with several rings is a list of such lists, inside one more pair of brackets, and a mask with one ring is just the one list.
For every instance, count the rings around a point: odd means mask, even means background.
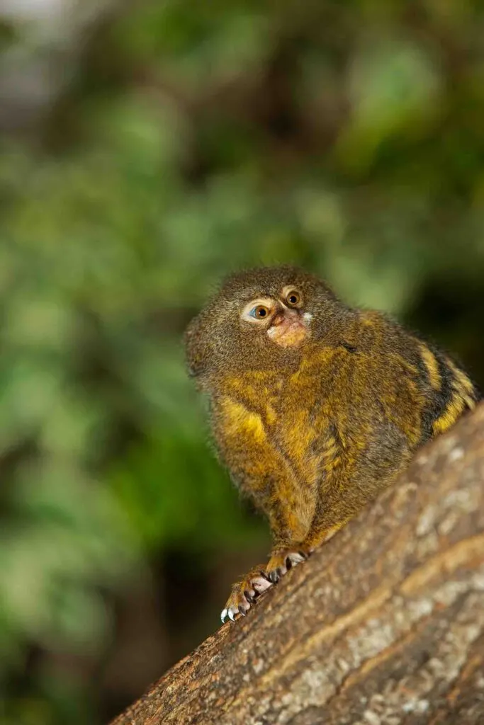
[{"label": "head of the small marmoset, brown-furred with pinkish face", "polygon": [[186,331],[193,376],[293,365],[339,303],[326,283],[283,265],[230,275]]}]

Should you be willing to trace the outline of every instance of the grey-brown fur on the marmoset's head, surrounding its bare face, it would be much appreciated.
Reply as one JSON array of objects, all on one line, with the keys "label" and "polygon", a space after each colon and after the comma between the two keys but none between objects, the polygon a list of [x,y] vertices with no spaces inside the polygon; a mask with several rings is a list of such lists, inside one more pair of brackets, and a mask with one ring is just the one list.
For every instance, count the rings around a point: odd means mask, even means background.
[{"label": "grey-brown fur on the marmoset's head, surrounding its bare face", "polygon": [[196,378],[229,370],[274,369],[297,365],[300,349],[278,349],[266,331],[242,324],[242,308],[257,297],[279,299],[282,289],[294,286],[303,294],[306,319],[316,336],[343,305],[324,281],[291,265],[242,270],[227,276],[185,334],[189,373]]}]

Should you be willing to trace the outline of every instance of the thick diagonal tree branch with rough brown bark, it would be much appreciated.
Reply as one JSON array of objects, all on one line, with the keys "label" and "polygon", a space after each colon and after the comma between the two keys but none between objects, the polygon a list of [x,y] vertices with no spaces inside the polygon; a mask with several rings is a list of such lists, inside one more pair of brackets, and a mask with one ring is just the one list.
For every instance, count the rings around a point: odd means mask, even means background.
[{"label": "thick diagonal tree branch with rough brown bark", "polygon": [[484,404],[113,725],[484,723]]}]

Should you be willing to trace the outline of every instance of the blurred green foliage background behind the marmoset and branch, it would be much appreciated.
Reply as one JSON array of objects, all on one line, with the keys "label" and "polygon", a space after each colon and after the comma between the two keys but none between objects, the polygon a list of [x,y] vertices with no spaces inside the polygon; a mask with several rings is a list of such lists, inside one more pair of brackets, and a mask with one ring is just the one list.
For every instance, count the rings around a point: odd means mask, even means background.
[{"label": "blurred green foliage background behind the marmoset and branch", "polygon": [[0,0],[0,723],[101,724],[265,558],[181,335],[298,262],[484,384],[479,0]]}]

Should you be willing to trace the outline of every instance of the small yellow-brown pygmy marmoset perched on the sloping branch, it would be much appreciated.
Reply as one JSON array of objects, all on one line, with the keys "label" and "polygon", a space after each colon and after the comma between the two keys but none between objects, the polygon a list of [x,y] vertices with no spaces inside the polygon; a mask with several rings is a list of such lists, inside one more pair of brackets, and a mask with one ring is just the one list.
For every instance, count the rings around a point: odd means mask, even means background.
[{"label": "small yellow-brown pygmy marmoset perched on the sloping branch", "polygon": [[290,266],[229,276],[190,323],[186,353],[221,461],[274,537],[222,621],[247,613],[477,402],[444,352]]}]

